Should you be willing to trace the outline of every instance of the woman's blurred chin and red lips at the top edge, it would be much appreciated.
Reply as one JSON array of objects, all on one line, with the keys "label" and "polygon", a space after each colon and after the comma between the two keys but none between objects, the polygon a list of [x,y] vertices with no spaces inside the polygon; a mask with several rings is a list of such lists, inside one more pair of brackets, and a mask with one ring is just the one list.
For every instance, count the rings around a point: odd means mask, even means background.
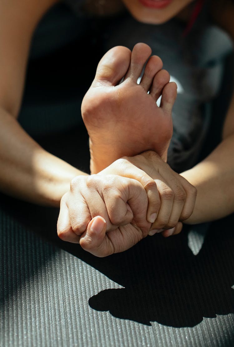
[{"label": "woman's blurred chin and red lips at the top edge", "polygon": [[123,2],[139,22],[162,24],[176,16],[193,0],[123,0]]}]

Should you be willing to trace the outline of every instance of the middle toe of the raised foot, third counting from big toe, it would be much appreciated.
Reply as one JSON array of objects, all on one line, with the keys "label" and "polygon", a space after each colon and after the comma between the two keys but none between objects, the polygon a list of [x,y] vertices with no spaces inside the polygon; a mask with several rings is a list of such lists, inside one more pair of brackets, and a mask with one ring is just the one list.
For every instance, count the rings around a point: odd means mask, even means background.
[{"label": "middle toe of the raised foot, third counting from big toe", "polygon": [[148,60],[144,74],[141,79],[141,86],[145,89],[146,92],[150,89],[154,76],[158,73],[162,68],[162,61],[157,56],[152,56]]}]

